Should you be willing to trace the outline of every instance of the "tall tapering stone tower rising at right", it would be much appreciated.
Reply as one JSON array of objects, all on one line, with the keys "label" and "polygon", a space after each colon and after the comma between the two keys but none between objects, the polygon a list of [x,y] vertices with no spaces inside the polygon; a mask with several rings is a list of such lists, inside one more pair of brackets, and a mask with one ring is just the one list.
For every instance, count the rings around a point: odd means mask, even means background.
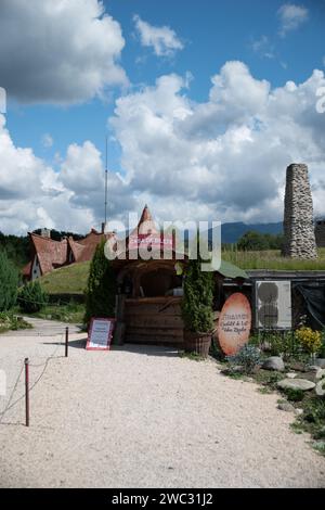
[{"label": "tall tapering stone tower rising at right", "polygon": [[307,165],[287,168],[283,255],[291,258],[317,258],[313,222],[313,200]]}]

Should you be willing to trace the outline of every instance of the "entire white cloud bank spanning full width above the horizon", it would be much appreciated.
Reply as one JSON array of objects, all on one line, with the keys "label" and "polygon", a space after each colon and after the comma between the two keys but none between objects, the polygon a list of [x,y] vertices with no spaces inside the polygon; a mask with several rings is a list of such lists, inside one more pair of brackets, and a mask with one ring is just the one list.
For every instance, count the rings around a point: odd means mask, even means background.
[{"label": "entire white cloud bank spanning full width above the horizon", "polygon": [[[116,102],[110,124],[121,179],[109,173],[109,218],[148,203],[158,219],[272,221],[283,218],[285,170],[309,165],[315,214],[325,215],[325,114],[315,109],[322,71],[272,89],[242,62],[211,78],[209,98],[191,100],[171,74]],[[94,144],[72,143],[54,171],[14,145],[0,116],[0,230],[38,227],[86,232],[104,214],[104,168]],[[47,225],[44,225],[47,224]]]}]

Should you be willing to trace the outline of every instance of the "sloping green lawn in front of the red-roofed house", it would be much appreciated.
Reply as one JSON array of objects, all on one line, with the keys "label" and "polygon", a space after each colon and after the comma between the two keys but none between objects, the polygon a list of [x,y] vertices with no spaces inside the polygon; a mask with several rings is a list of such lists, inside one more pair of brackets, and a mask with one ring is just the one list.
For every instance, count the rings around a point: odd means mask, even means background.
[{"label": "sloping green lawn in front of the red-roofed house", "polygon": [[48,294],[83,294],[89,268],[90,262],[72,264],[44,275],[39,282]]}]

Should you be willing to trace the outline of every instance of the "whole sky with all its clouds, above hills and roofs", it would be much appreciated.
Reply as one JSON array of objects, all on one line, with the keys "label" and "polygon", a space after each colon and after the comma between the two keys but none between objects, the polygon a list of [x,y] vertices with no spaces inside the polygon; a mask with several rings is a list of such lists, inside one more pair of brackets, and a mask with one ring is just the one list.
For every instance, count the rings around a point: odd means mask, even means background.
[{"label": "whole sky with all its clouds, above hills and roofs", "polygon": [[[1,0],[0,231],[325,216],[325,0]],[[4,109],[4,106],[6,106]]]}]

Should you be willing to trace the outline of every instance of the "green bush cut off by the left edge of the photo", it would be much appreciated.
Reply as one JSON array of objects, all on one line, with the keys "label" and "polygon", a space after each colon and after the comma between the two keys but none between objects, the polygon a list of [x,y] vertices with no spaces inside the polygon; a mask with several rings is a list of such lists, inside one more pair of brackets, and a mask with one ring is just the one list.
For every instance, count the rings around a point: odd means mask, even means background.
[{"label": "green bush cut off by the left edge of the photo", "polygon": [[0,311],[16,304],[18,272],[4,252],[0,252]]}]

